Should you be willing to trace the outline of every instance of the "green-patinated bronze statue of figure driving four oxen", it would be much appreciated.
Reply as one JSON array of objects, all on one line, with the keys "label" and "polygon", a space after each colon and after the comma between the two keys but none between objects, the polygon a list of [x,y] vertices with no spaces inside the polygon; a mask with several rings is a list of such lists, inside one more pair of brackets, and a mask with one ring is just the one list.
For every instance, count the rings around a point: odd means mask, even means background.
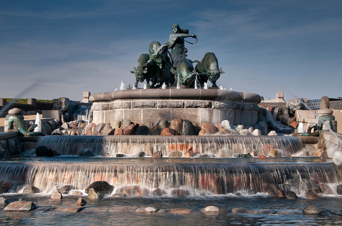
[{"label": "green-patinated bronze statue of figure driving four oxen", "polygon": [[[165,44],[153,41],[149,45],[148,54],[140,55],[136,68],[131,71],[136,78],[134,87],[146,80],[146,88],[159,88],[163,83],[168,87],[174,87],[178,83],[194,88],[196,79],[200,87],[208,80],[213,84],[212,87],[218,87],[216,81],[224,71],[219,68],[215,54],[206,53],[200,62],[187,59],[184,42],[188,41],[184,38],[192,37],[197,42],[196,35],[190,35],[189,30],[181,29],[178,24],[172,25],[172,31]],[[194,63],[197,64],[195,67]]]}]

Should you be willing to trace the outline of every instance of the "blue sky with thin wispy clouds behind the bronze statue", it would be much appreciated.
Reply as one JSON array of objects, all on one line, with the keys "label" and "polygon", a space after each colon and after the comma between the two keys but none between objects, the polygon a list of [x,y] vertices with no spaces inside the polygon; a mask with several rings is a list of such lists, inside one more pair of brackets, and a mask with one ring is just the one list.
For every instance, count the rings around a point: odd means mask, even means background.
[{"label": "blue sky with thin wispy clouds behind the bronze statue", "polygon": [[[285,99],[342,96],[342,1],[0,1],[0,97],[111,92],[171,26],[214,52],[218,85]],[[193,41],[192,38],[189,41]],[[37,85],[30,88],[32,83]],[[293,96],[294,95],[294,96]]]}]

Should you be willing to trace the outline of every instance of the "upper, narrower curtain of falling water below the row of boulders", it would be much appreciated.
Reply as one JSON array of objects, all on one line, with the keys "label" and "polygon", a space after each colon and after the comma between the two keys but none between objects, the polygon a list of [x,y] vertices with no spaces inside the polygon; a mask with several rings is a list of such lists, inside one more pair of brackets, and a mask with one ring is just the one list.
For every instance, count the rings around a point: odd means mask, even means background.
[{"label": "upper, narrower curtain of falling water below the row of boulders", "polygon": [[193,154],[210,154],[216,157],[232,157],[234,154],[257,152],[268,156],[272,149],[277,149],[282,156],[291,155],[303,148],[297,137],[277,136],[43,136],[37,146],[46,146],[61,155],[78,155],[90,150],[95,155],[116,156],[116,154],[136,155],[144,151],[152,155],[161,151],[168,156],[171,144],[189,144]]}]

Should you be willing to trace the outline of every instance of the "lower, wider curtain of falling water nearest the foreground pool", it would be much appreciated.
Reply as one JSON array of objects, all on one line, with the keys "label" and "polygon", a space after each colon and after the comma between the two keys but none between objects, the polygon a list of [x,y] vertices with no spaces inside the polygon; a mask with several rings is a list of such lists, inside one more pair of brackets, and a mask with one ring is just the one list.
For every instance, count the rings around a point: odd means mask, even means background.
[{"label": "lower, wider curtain of falling water nearest the foreground pool", "polygon": [[[77,163],[68,162],[1,162],[1,180],[12,184],[35,186],[49,192],[51,185],[73,185],[85,189],[94,181],[107,181],[120,188],[138,185],[150,192],[155,188],[165,190],[185,188],[215,194],[217,180],[222,181],[224,193],[240,190],[266,192],[269,183],[291,184],[293,180],[310,180],[315,184],[337,185],[337,175],[332,163]],[[300,187],[294,189],[300,190]],[[18,187],[18,186],[14,186]],[[18,190],[17,190],[18,191]],[[14,191],[15,192],[15,191]]]}]

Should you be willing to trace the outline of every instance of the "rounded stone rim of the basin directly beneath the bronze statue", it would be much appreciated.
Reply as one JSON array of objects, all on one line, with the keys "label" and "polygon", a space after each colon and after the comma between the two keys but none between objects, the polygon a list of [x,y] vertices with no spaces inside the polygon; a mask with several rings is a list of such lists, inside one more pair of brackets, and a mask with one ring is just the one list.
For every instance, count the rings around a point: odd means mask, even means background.
[{"label": "rounded stone rim of the basin directly beneath the bronze statue", "polygon": [[108,102],[123,99],[200,99],[259,104],[261,97],[255,93],[218,89],[136,89],[117,90],[109,93],[94,93],[89,101]]}]

